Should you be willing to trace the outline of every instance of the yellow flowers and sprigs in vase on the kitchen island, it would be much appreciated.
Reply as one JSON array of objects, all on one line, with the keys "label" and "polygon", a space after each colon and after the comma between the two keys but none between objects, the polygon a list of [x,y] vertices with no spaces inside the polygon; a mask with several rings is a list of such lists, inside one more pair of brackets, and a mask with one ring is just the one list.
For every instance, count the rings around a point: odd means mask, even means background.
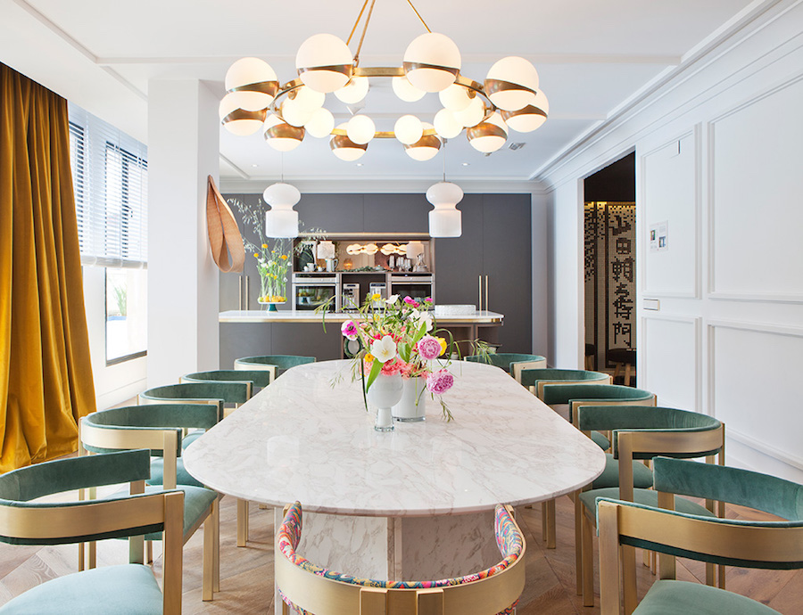
[{"label": "yellow flowers and sprigs in vase on the kitchen island", "polygon": [[[245,237],[243,243],[245,251],[253,254],[257,261],[257,271],[260,274],[260,303],[284,303],[287,300],[285,288],[287,271],[292,264],[292,256],[301,253],[303,244],[299,242],[293,250],[289,239],[274,239],[265,236],[265,213],[267,207],[260,199],[256,205],[238,199],[229,199],[228,202],[236,207],[243,218],[245,225],[251,225],[252,234],[257,240],[251,242]],[[301,224],[299,225],[302,226]],[[325,232],[312,229],[308,234],[311,240],[322,239]]]}]

